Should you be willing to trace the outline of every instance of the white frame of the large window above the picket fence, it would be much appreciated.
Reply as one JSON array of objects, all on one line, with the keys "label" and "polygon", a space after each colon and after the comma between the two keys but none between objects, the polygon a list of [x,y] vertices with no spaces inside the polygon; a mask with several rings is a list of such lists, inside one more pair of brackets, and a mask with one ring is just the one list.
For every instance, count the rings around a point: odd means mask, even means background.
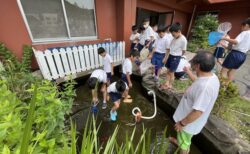
[{"label": "white frame of the large window above the picket fence", "polygon": [[67,12],[66,12],[66,8],[65,8],[65,4],[64,4],[64,0],[60,0],[61,1],[61,4],[62,4],[62,9],[63,9],[63,16],[64,16],[64,19],[65,19],[65,24],[66,24],[66,33],[68,35],[67,38],[39,38],[39,39],[35,39],[32,35],[32,32],[30,30],[30,26],[29,26],[29,23],[28,23],[28,20],[26,18],[26,15],[24,13],[24,10],[23,10],[23,6],[22,6],[22,3],[21,3],[21,0],[17,0],[17,4],[18,4],[18,7],[19,7],[19,10],[21,12],[21,15],[22,15],[22,18],[23,18],[23,21],[24,21],[24,24],[25,24],[25,27],[29,33],[29,36],[30,36],[30,39],[32,41],[32,43],[51,43],[51,42],[66,42],[66,41],[86,41],[86,40],[97,40],[98,39],[98,31],[97,31],[97,20],[96,20],[96,5],[95,5],[95,0],[93,0],[93,3],[94,3],[94,22],[95,22],[95,33],[96,33],[96,36],[82,36],[82,37],[72,37],[70,35],[70,28],[69,28],[69,22],[68,22],[68,17],[67,17]]}]

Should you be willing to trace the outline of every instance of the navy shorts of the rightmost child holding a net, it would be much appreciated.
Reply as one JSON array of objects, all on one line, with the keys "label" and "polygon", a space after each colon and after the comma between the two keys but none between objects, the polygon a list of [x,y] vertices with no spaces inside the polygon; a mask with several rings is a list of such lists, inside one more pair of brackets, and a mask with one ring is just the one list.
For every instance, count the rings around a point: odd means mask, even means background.
[{"label": "navy shorts of the rightmost child holding a net", "polygon": [[238,69],[245,62],[247,55],[243,52],[232,50],[227,55],[222,66],[227,69]]}]

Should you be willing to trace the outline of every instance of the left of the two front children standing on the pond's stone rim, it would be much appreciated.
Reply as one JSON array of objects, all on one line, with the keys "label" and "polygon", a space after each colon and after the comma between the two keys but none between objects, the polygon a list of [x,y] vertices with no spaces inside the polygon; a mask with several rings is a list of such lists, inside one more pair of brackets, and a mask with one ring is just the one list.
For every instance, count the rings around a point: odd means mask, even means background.
[{"label": "left of the two front children standing on the pond's stone rim", "polygon": [[158,38],[155,40],[154,49],[152,53],[149,55],[151,59],[151,63],[154,65],[155,68],[155,81],[158,81],[161,68],[164,66],[163,59],[165,57],[167,49],[169,49],[170,42],[165,35],[166,28],[160,26],[157,30]]}]

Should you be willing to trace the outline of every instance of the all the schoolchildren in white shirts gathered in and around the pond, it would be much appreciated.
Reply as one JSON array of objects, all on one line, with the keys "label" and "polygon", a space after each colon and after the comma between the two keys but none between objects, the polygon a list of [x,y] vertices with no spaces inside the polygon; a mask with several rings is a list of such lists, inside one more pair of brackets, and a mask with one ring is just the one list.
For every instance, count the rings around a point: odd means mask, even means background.
[{"label": "all the schoolchildren in white shirts gathered in and around the pond", "polygon": [[[138,33],[138,29],[139,32]],[[171,89],[175,78],[182,78],[190,63],[186,60],[185,51],[187,49],[187,39],[181,33],[182,26],[175,23],[171,26],[150,27],[149,19],[145,19],[143,25],[139,28],[132,26],[131,52],[130,56],[122,64],[121,79],[111,83],[114,74],[114,65],[112,58],[104,48],[98,49],[98,54],[103,57],[104,69],[95,70],[89,80],[88,86],[92,89],[92,102],[94,106],[98,104],[97,89],[98,84],[102,84],[101,92],[103,93],[102,108],[106,109],[109,99],[114,103],[110,111],[110,119],[116,121],[117,112],[121,99],[130,102],[128,95],[129,89],[132,88],[131,74],[132,64],[139,61],[142,49],[149,50],[148,59],[154,66],[154,79],[157,82],[162,67],[167,67],[165,84],[161,85],[162,89]],[[228,54],[225,61],[221,59],[224,48],[233,44],[232,51]],[[242,23],[242,32],[236,39],[230,39],[228,35],[222,37],[217,44],[214,57],[218,58],[218,64],[222,65],[222,75],[227,74],[229,80],[233,79],[233,73],[238,69],[246,59],[246,52],[250,50],[250,18]]]}]

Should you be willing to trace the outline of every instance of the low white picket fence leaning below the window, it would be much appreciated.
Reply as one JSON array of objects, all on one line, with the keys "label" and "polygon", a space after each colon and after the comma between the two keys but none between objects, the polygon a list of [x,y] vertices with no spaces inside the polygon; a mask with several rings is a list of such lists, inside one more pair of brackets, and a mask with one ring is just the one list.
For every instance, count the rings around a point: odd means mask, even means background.
[{"label": "low white picket fence leaning below the window", "polygon": [[97,52],[99,47],[105,48],[113,58],[115,66],[120,65],[125,59],[124,41],[53,48],[44,52],[35,49],[33,51],[43,77],[56,80],[102,67],[102,57]]}]

